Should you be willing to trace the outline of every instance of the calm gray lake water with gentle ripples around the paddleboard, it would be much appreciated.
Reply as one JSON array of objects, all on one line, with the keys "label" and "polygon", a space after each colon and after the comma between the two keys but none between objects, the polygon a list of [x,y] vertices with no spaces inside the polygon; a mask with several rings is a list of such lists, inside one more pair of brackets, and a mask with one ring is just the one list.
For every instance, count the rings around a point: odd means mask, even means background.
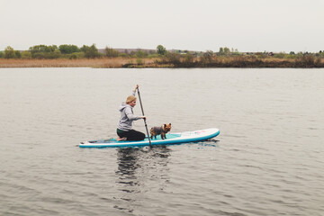
[{"label": "calm gray lake water with gentle ripples around the paddleboard", "polygon": [[[136,84],[148,127],[220,135],[76,147]],[[1,68],[0,215],[323,215],[323,95],[324,69]]]}]

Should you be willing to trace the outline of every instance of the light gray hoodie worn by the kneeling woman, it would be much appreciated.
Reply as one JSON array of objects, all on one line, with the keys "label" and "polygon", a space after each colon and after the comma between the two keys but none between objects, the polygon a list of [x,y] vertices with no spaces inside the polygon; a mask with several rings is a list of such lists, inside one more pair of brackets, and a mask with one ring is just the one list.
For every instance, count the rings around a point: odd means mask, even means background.
[{"label": "light gray hoodie worn by the kneeling woman", "polygon": [[[135,91],[132,92],[132,95],[135,96]],[[132,121],[139,120],[141,116],[134,115],[132,107],[129,104],[121,103],[119,108],[121,112],[121,118],[118,122],[117,128],[119,130],[129,131],[131,130]]]}]

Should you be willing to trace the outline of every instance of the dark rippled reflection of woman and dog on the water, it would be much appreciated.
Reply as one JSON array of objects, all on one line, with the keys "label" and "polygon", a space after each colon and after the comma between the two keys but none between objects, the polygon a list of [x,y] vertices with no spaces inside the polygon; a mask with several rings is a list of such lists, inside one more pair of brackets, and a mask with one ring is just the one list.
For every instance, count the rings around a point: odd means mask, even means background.
[{"label": "dark rippled reflection of woman and dog on the water", "polygon": [[118,188],[123,193],[121,204],[114,208],[134,211],[134,205],[145,197],[150,184],[157,184],[159,190],[164,190],[169,181],[167,163],[171,151],[166,146],[119,148],[115,174],[118,176]]}]

